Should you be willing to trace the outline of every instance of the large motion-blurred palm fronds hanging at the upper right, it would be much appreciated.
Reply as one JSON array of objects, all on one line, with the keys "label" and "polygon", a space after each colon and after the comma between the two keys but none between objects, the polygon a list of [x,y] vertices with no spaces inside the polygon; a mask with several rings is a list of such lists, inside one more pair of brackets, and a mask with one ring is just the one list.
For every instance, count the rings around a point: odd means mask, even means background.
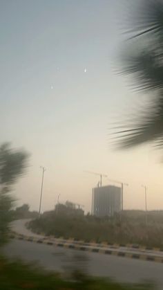
[{"label": "large motion-blurred palm fronds hanging at the upper right", "polygon": [[129,49],[122,58],[122,73],[134,87],[147,93],[149,102],[130,124],[117,132],[117,143],[128,148],[142,143],[163,146],[163,2],[142,0],[128,30]]}]

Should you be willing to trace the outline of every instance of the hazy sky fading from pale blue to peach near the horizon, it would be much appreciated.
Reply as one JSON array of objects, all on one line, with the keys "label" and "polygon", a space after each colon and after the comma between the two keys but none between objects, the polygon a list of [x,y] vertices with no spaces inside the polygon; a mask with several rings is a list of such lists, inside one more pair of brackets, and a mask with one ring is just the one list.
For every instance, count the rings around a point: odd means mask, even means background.
[{"label": "hazy sky fading from pale blue to peach near the horizon", "polygon": [[[162,152],[116,151],[110,128],[135,114],[144,96],[115,73],[124,47],[126,0],[0,0],[1,143],[30,152],[15,185],[17,206],[41,210],[74,201],[90,211],[102,172],[128,183],[124,208],[163,209]],[[126,13],[126,14],[125,14]],[[143,101],[142,101],[143,100]],[[111,183],[107,178],[103,184]]]}]

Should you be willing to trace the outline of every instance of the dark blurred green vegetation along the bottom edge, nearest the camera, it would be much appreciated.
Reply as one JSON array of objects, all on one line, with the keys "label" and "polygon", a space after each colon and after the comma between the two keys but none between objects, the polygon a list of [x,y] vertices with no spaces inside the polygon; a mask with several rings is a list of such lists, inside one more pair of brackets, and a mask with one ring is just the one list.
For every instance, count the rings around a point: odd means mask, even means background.
[{"label": "dark blurred green vegetation along the bottom edge, nearest the camera", "polygon": [[59,274],[49,273],[35,265],[20,261],[8,262],[0,258],[0,289],[3,290],[152,290],[149,284],[119,284],[111,280],[90,278],[73,272],[69,278],[61,278]]}]

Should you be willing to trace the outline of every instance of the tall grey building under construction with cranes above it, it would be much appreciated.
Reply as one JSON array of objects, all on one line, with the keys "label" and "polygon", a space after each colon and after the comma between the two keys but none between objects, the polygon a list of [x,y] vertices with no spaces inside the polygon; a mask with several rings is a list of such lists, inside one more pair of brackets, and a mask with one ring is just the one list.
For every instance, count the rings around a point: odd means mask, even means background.
[{"label": "tall grey building under construction with cranes above it", "polygon": [[121,188],[114,185],[93,188],[92,214],[97,217],[113,216],[121,210]]}]

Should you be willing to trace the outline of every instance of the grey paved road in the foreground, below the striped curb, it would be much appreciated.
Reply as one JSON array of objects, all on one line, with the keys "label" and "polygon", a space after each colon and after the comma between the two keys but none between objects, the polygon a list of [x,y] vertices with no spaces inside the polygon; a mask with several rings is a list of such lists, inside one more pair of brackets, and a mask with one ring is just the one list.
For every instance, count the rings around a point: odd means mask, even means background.
[{"label": "grey paved road in the foreground, below the striped curb", "polygon": [[[23,227],[23,222],[19,221],[19,230]],[[88,261],[79,262],[79,267],[88,269],[88,273],[97,276],[107,276],[122,282],[140,282],[141,280],[153,280],[163,289],[163,265],[156,262],[143,260],[133,260],[126,257],[117,257],[114,255],[103,255],[99,253],[83,253],[68,248],[59,248],[48,246],[46,244],[37,244],[35,242],[26,242],[22,240],[12,240],[3,249],[9,257],[21,257],[27,261],[37,261],[46,269],[55,271],[64,271],[67,267],[74,266],[74,256],[84,255]],[[85,263],[85,264],[84,264]]]}]

